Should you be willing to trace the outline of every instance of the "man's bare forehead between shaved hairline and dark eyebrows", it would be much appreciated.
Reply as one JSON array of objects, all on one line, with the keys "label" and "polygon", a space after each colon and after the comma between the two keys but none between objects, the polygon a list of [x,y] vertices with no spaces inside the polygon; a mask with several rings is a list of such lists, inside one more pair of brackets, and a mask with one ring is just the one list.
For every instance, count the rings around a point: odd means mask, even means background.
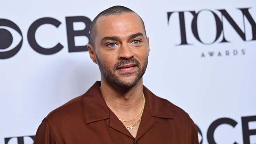
[{"label": "man's bare forehead between shaved hairline and dark eyebrows", "polygon": [[125,37],[135,33],[145,35],[141,18],[133,12],[101,16],[96,22],[96,43],[104,36]]}]

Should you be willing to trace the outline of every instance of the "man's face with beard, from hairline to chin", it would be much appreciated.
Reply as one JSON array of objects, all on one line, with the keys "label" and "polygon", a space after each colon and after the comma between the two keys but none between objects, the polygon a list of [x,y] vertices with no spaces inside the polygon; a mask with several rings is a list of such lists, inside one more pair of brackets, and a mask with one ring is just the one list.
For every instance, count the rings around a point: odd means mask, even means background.
[{"label": "man's face with beard, from hairline to chin", "polygon": [[102,78],[123,88],[137,84],[146,71],[149,54],[139,16],[129,12],[99,17],[93,50],[90,57],[95,58]]}]

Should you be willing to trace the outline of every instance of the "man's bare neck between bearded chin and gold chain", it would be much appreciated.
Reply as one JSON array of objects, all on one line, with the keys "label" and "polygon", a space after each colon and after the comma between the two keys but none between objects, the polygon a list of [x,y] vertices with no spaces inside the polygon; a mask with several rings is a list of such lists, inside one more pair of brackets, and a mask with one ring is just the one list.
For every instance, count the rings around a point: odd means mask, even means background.
[{"label": "man's bare neck between bearded chin and gold chain", "polygon": [[131,88],[120,88],[101,79],[100,90],[108,107],[119,118],[129,119],[140,112],[143,105],[142,78]]}]

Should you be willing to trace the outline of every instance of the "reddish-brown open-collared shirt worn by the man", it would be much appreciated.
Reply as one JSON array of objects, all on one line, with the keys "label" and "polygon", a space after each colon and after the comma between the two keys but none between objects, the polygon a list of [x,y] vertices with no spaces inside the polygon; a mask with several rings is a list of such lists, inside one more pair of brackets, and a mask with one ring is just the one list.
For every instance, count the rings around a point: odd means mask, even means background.
[{"label": "reddish-brown open-collared shirt worn by the man", "polygon": [[100,82],[50,112],[38,127],[35,144],[198,144],[189,115],[143,86],[146,105],[136,138],[108,108]]}]

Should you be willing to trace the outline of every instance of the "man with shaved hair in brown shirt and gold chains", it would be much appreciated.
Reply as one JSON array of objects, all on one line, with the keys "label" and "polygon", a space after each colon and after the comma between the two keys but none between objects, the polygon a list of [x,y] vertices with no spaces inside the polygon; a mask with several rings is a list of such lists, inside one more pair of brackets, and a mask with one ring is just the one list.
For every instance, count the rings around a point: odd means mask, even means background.
[{"label": "man with shaved hair in brown shirt and gold chains", "polygon": [[137,13],[123,6],[99,13],[88,51],[101,81],[52,111],[35,144],[198,144],[189,115],[142,84],[150,49]]}]

